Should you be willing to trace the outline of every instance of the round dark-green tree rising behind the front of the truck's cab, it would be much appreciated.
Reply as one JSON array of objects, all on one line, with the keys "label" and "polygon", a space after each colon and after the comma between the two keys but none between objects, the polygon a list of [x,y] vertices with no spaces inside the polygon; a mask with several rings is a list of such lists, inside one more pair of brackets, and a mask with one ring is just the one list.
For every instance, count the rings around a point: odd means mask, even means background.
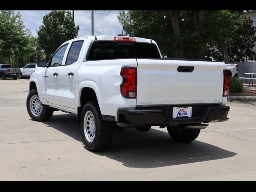
[{"label": "round dark-green tree rising behind the front of the truck's cab", "polygon": [[69,11],[54,10],[44,16],[37,31],[39,46],[46,54],[53,54],[62,43],[76,38],[78,30]]}]

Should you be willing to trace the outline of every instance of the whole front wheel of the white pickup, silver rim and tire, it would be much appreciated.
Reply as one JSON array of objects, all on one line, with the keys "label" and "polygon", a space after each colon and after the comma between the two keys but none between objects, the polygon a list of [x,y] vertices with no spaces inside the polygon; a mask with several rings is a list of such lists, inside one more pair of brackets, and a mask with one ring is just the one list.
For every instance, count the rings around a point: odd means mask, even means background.
[{"label": "whole front wheel of the white pickup, silver rim and tire", "polygon": [[34,121],[46,121],[52,117],[54,111],[53,108],[42,105],[36,89],[31,90],[28,94],[27,110]]}]

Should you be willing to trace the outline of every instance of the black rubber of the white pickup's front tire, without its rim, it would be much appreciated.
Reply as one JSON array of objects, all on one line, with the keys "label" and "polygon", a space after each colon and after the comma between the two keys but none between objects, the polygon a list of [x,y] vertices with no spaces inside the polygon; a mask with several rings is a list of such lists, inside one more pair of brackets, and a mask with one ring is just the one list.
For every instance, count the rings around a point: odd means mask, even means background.
[{"label": "black rubber of the white pickup's front tire, without its rim", "polygon": [[48,107],[48,106],[42,106],[42,112],[38,116],[34,115],[32,111],[30,110],[30,99],[33,96],[38,96],[37,90],[33,89],[29,92],[28,97],[27,97],[27,110],[29,116],[32,118],[34,121],[46,121],[52,117],[53,114],[53,108]]}]

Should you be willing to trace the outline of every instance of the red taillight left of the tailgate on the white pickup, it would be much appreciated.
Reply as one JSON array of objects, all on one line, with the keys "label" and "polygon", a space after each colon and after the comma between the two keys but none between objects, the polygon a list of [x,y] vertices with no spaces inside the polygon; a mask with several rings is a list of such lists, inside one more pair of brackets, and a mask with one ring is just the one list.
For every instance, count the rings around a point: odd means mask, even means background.
[{"label": "red taillight left of the tailgate on the white pickup", "polygon": [[123,82],[120,85],[122,96],[136,98],[136,68],[124,67],[120,74],[123,77]]}]

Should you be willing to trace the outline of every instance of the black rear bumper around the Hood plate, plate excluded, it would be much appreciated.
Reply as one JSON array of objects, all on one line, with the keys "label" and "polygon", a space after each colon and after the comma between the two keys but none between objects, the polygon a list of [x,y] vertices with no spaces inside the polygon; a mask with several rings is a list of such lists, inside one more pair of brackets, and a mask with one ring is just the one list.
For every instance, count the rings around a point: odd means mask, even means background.
[{"label": "black rear bumper around the Hood plate, plate excluded", "polygon": [[189,105],[192,106],[192,117],[172,118],[175,106],[140,107],[134,110],[119,109],[117,125],[120,127],[140,127],[144,125],[168,126],[175,124],[195,124],[227,121],[229,106]]}]

